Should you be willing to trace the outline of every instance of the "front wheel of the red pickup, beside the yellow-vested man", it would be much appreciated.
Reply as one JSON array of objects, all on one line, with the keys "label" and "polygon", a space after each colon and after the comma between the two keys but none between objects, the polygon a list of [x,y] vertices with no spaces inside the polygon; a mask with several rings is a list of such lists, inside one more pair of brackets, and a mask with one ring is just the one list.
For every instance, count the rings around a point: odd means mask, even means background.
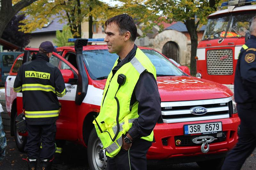
[{"label": "front wheel of the red pickup, beside the yellow-vested man", "polygon": [[90,170],[105,170],[107,168],[107,157],[105,149],[98,138],[95,128],[92,129],[88,141],[88,162]]}]

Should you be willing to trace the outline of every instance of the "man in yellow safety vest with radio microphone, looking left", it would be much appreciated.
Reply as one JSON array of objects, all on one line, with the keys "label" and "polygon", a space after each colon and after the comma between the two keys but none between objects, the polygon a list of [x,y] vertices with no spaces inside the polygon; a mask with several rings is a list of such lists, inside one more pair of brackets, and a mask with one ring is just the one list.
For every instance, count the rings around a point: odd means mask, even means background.
[{"label": "man in yellow safety vest with radio microphone, looking left", "polygon": [[108,157],[108,170],[147,169],[146,153],[161,115],[156,69],[134,44],[137,28],[132,17],[117,15],[105,26],[108,52],[119,58],[93,123]]}]

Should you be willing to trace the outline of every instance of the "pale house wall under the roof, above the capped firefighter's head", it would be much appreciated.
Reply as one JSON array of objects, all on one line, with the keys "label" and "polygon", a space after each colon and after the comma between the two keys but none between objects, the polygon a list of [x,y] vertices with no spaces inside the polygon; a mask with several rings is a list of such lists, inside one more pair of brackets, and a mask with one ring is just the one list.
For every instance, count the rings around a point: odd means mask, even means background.
[{"label": "pale house wall under the roof, above the capped firefighter's head", "polygon": [[[43,41],[51,41],[53,43],[53,39],[56,39],[55,32],[43,33],[43,34],[32,34],[28,47],[38,48]],[[54,43],[53,45],[56,46]]]}]

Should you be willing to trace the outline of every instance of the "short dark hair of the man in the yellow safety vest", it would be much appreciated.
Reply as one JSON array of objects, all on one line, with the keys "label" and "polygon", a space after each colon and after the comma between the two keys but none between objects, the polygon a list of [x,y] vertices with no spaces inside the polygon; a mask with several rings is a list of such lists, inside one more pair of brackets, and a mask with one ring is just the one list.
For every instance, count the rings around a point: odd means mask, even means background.
[{"label": "short dark hair of the man in the yellow safety vest", "polygon": [[124,35],[125,32],[129,31],[131,33],[131,41],[135,41],[137,37],[137,27],[131,16],[128,14],[120,14],[115,17],[109,18],[105,22],[105,26],[107,27],[110,24],[116,24],[118,26],[119,35]]}]

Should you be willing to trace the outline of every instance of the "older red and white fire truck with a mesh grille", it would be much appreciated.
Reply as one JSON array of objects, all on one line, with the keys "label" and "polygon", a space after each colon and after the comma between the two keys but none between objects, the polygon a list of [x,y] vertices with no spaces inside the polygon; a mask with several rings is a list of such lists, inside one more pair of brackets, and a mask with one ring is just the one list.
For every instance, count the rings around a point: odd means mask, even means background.
[{"label": "older red and white fire truck with a mesh grille", "polygon": [[227,9],[209,15],[204,36],[196,52],[197,78],[215,81],[234,89],[238,54],[249,37],[255,0],[229,1]]}]

